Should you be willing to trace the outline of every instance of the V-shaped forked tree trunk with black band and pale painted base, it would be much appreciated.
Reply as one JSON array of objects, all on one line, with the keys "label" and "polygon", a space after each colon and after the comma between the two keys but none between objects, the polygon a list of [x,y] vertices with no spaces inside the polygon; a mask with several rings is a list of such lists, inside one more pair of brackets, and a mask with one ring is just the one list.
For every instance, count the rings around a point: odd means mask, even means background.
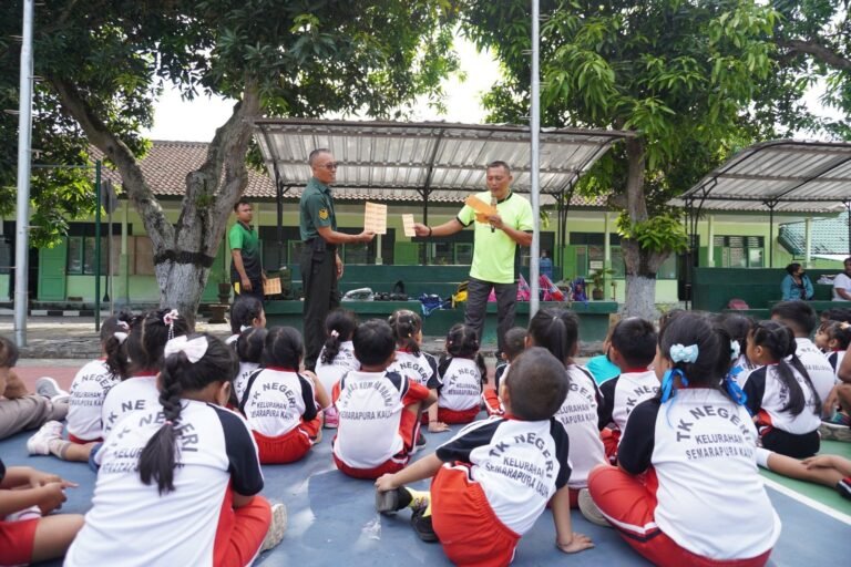
[{"label": "V-shaped forked tree trunk with black band and pale painted base", "polygon": [[248,183],[245,156],[253,120],[259,113],[256,82],[246,78],[243,100],[234,106],[228,121],[216,130],[206,161],[186,176],[186,194],[175,225],[165,218],[133,153],[94,113],[85,97],[62,79],[50,78],[50,82],[90,142],[119,168],[122,187],[152,241],[160,307],[177,309],[194,327],[228,216]]}]

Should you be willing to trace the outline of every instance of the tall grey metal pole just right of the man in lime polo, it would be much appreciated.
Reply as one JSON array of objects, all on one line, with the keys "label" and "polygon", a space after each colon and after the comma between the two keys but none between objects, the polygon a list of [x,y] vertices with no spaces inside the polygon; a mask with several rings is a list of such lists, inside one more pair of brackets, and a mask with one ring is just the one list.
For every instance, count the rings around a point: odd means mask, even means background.
[{"label": "tall grey metal pole just right of the man in lime polo", "polygon": [[532,218],[534,219],[534,229],[532,230],[532,250],[529,262],[529,287],[532,297],[529,301],[529,318],[535,316],[539,308],[539,272],[540,272],[540,250],[541,250],[541,188],[539,186],[540,174],[540,131],[541,131],[541,81],[539,76],[539,42],[540,42],[540,9],[537,0],[532,0],[532,109],[530,115],[530,128],[532,130],[532,163],[530,164],[531,192],[532,192]]}]

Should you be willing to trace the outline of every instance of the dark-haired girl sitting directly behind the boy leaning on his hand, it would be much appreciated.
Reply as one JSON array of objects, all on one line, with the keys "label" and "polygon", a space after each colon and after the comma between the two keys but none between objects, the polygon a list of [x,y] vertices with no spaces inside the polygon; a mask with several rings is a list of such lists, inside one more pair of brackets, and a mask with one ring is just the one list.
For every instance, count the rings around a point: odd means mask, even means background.
[{"label": "dark-haired girl sitting directly behind the boy leaning on his hand", "polygon": [[530,346],[544,347],[552,352],[562,361],[570,379],[567,398],[555,412],[555,419],[571,439],[572,472],[567,486],[572,508],[578,507],[580,492],[585,491],[591,470],[606,462],[599,437],[602,395],[591,374],[573,360],[580,348],[578,338],[578,319],[567,309],[541,309],[529,322]]}]

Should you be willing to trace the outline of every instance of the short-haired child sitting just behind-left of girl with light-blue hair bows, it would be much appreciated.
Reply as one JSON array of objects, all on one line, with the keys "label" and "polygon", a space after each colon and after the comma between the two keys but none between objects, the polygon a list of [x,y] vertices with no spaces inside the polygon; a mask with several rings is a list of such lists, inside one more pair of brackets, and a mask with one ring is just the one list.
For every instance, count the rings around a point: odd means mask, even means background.
[{"label": "short-haired child sitting just behind-left of girl with light-blue hair bows", "polygon": [[637,317],[622,319],[612,331],[608,357],[621,369],[621,375],[599,385],[601,436],[612,463],[617,461],[617,444],[629,413],[659,391],[656,372],[648,369],[656,358],[656,340],[653,324]]}]

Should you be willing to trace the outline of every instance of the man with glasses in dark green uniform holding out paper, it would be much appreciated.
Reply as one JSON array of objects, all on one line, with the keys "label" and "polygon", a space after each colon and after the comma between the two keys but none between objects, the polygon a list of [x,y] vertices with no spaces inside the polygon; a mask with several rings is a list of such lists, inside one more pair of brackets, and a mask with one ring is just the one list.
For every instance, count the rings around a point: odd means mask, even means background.
[{"label": "man with glasses in dark green uniform holding out paper", "polygon": [[369,243],[376,237],[363,230],[357,235],[337,231],[331,184],[337,181],[337,162],[329,150],[310,152],[307,161],[312,177],[307,182],[299,210],[301,234],[301,284],[305,293],[305,368],[314,370],[325,343],[325,319],[340,307],[337,280],[342,277],[342,260],[337,246],[347,243]]}]

